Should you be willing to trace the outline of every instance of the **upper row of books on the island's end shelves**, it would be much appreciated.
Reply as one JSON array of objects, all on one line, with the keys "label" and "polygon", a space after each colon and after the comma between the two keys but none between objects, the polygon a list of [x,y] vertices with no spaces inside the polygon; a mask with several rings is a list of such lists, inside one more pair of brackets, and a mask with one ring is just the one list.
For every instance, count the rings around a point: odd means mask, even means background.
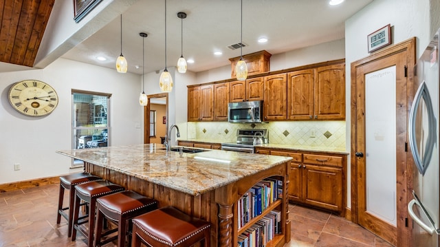
[{"label": "upper row of books on the island's end shelves", "polygon": [[270,204],[281,198],[282,195],[282,180],[268,178],[252,186],[237,202],[239,228],[243,228],[251,219],[261,215]]}]

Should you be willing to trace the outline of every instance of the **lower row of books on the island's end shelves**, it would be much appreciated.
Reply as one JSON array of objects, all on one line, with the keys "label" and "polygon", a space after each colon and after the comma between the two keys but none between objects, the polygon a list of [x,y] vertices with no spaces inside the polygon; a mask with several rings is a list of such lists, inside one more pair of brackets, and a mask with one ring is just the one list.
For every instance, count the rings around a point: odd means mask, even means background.
[{"label": "lower row of books on the island's end shelves", "polygon": [[281,211],[272,210],[239,235],[239,247],[265,247],[281,233]]}]

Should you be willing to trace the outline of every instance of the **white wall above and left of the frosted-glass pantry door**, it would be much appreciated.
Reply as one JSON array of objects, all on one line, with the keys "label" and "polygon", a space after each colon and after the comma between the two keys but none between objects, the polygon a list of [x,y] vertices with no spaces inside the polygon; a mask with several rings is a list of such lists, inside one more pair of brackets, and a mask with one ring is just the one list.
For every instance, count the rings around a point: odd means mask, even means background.
[{"label": "white wall above and left of the frosted-glass pantry door", "polygon": [[[433,0],[432,3],[439,2]],[[438,6],[438,4],[437,4]],[[345,23],[345,63],[346,63],[346,102],[351,102],[351,63],[369,56],[366,36],[385,25],[391,24],[393,44],[417,37],[417,58],[430,41],[430,10],[429,0],[381,0],[373,1],[348,19]],[[351,105],[347,104],[347,151],[351,150]],[[350,157],[349,157],[350,158]],[[351,191],[350,163],[347,171],[347,191]],[[351,194],[348,193],[348,206],[351,205]]]}]

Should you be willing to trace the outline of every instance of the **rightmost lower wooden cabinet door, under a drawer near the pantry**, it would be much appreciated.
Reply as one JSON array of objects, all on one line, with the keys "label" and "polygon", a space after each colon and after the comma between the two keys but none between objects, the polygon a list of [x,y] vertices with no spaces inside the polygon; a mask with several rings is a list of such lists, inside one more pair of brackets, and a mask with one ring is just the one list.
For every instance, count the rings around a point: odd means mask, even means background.
[{"label": "rightmost lower wooden cabinet door, under a drawer near the pantry", "polygon": [[303,165],[304,203],[342,211],[342,169],[316,165]]}]

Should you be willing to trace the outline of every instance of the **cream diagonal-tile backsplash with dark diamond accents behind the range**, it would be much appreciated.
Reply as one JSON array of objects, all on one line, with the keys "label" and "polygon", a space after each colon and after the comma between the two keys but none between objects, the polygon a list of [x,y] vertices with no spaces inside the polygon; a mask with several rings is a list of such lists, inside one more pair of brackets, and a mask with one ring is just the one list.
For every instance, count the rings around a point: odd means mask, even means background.
[{"label": "cream diagonal-tile backsplash with dark diamond accents behind the range", "polygon": [[345,148],[345,121],[188,122],[188,139],[234,142],[237,129],[267,129],[269,142],[274,144]]}]

